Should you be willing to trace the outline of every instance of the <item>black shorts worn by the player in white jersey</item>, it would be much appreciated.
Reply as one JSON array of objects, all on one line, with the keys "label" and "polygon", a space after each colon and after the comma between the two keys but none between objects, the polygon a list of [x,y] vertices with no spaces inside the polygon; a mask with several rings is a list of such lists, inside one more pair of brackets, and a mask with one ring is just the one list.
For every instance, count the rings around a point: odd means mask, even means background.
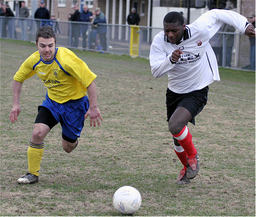
[{"label": "black shorts worn by the player in white jersey", "polygon": [[190,93],[174,93],[167,88],[166,91],[166,107],[167,107],[167,122],[169,122],[172,114],[178,107],[186,108],[192,119],[189,121],[195,125],[195,116],[202,111],[207,103],[207,94],[209,88],[206,86],[201,90],[195,90]]}]

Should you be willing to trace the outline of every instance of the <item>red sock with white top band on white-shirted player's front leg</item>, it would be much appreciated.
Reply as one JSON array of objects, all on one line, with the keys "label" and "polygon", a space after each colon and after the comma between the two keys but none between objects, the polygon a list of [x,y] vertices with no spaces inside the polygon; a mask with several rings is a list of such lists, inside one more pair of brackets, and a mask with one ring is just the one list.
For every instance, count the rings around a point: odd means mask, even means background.
[{"label": "red sock with white top band on white-shirted player's front leg", "polygon": [[181,132],[177,135],[173,135],[173,137],[178,140],[181,147],[185,150],[187,158],[194,158],[197,155],[197,149],[195,149],[192,142],[192,135],[186,125]]}]

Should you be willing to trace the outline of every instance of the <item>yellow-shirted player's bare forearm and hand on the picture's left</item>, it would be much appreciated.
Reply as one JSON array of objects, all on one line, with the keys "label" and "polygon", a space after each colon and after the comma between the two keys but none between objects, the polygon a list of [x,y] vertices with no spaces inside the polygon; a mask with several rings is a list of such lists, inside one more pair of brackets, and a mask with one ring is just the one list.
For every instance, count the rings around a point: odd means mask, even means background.
[{"label": "yellow-shirted player's bare forearm and hand on the picture's left", "polygon": [[21,94],[22,84],[23,83],[21,82],[18,82],[15,80],[13,81],[13,85],[12,85],[13,107],[12,107],[12,112],[9,116],[9,120],[11,120],[12,123],[17,121],[17,117],[21,112],[20,94]]}]

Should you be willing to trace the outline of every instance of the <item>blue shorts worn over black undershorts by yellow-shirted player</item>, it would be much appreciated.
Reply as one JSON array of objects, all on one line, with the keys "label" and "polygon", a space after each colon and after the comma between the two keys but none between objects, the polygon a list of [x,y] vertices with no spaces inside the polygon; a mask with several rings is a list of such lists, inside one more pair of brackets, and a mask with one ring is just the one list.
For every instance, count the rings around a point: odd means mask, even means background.
[{"label": "blue shorts worn over black undershorts by yellow-shirted player", "polygon": [[[84,115],[89,108],[87,96],[80,99],[57,103],[45,95],[45,101],[41,106],[48,108],[58,123],[61,124],[62,133],[70,139],[77,139],[84,125]],[[40,106],[38,106],[40,107]]]}]

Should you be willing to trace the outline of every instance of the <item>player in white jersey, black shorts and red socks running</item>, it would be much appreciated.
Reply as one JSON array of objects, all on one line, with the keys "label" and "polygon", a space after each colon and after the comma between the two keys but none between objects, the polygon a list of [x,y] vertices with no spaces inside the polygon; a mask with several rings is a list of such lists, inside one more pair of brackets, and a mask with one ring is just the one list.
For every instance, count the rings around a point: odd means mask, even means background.
[{"label": "player in white jersey, black shorts and red socks running", "polygon": [[220,80],[216,57],[208,42],[223,23],[255,37],[247,19],[231,10],[209,10],[190,25],[184,24],[182,14],[170,12],[164,17],[164,31],[154,37],[150,48],[152,75],[167,74],[169,80],[167,121],[174,151],[183,164],[177,184],[189,184],[199,171],[198,152],[187,124],[195,125],[195,116],[207,102],[208,85]]}]

